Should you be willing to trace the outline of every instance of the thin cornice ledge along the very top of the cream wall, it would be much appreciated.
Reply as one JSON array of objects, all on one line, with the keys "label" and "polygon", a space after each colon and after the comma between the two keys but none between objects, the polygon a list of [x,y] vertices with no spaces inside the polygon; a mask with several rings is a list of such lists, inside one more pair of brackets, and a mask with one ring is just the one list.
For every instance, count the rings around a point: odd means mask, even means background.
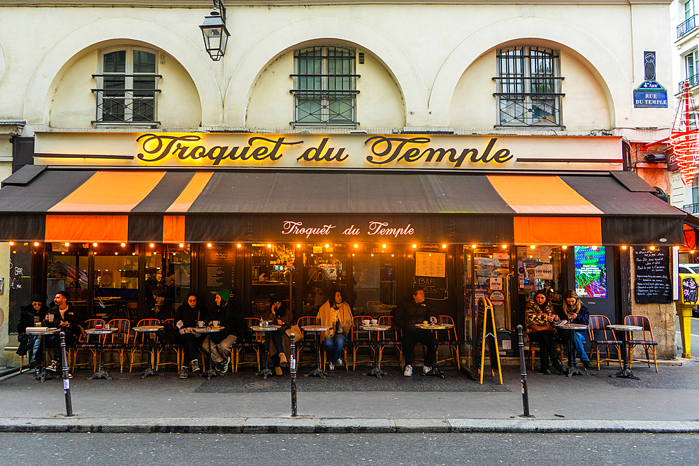
[{"label": "thin cornice ledge along the very top of the cream wall", "polygon": [[[322,6],[322,5],[669,5],[672,0],[226,0],[233,6]],[[83,8],[212,8],[210,0],[106,0],[88,3],[78,0],[0,0],[0,7],[83,7]]]}]

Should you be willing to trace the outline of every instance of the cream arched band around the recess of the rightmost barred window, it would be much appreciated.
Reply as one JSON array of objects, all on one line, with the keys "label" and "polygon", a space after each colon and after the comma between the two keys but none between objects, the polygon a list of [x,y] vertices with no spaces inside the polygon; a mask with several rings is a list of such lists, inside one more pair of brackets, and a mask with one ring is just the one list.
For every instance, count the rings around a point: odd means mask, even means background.
[{"label": "cream arched band around the recess of the rightmost barred window", "polygon": [[[537,17],[519,17],[495,22],[483,29],[474,31],[449,54],[432,87],[433,91],[429,99],[430,124],[432,126],[450,126],[452,124],[449,111],[452,99],[454,99],[456,85],[464,71],[472,66],[479,57],[503,44],[528,41],[557,43],[566,48],[571,56],[577,57],[598,81],[601,92],[607,101],[611,124],[615,124],[617,113],[624,115],[630,112],[632,103],[628,92],[630,77],[624,66],[621,66],[619,59],[610,50],[607,50],[605,45],[587,31],[570,23]],[[594,51],[594,53],[583,55],[581,51],[586,50]],[[493,78],[493,76],[494,74],[489,78]],[[494,89],[494,85],[491,87]]]}]

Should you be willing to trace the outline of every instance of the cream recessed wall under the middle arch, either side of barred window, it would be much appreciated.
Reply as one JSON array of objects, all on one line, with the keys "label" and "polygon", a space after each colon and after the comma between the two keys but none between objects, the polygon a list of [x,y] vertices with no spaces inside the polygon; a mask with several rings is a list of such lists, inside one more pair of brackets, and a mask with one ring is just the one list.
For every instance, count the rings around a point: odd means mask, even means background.
[{"label": "cream recessed wall under the middle arch, either side of barred window", "polygon": [[[310,47],[318,44],[304,44]],[[337,44],[354,48],[352,44]],[[361,50],[355,49],[356,52]],[[294,51],[289,50],[271,61],[259,74],[247,105],[247,128],[266,131],[293,131],[294,96],[289,92],[294,82],[289,76],[294,73]],[[394,78],[372,54],[365,52],[363,65],[356,65],[356,80],[359,90],[356,98],[357,119],[362,128],[385,129],[405,126],[403,96]],[[380,105],[376,105],[380,103]]]}]

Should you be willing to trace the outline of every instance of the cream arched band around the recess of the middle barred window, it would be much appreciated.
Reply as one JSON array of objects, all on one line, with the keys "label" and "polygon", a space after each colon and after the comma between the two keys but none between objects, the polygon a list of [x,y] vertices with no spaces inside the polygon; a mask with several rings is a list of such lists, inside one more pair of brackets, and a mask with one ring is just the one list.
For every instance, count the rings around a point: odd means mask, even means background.
[{"label": "cream arched band around the recess of the middle barred window", "polygon": [[[294,44],[289,43],[289,38],[293,38]],[[380,30],[338,17],[314,17],[287,24],[262,38],[240,57],[226,88],[226,123],[229,126],[246,126],[247,104],[254,84],[268,64],[295,48],[296,44],[322,40],[353,43],[363,50],[370,50],[400,89],[405,102],[405,124],[426,124],[426,87],[410,56]],[[291,72],[287,76],[289,74]]]}]

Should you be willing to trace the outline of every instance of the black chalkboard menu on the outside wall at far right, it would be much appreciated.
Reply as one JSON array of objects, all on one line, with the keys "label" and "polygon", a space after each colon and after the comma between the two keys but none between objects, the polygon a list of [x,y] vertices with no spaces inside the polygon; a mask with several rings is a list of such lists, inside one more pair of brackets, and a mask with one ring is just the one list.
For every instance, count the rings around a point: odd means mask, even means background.
[{"label": "black chalkboard menu on the outside wall at far right", "polygon": [[669,247],[656,247],[654,251],[649,248],[634,249],[633,265],[636,303],[667,304],[672,301]]}]

